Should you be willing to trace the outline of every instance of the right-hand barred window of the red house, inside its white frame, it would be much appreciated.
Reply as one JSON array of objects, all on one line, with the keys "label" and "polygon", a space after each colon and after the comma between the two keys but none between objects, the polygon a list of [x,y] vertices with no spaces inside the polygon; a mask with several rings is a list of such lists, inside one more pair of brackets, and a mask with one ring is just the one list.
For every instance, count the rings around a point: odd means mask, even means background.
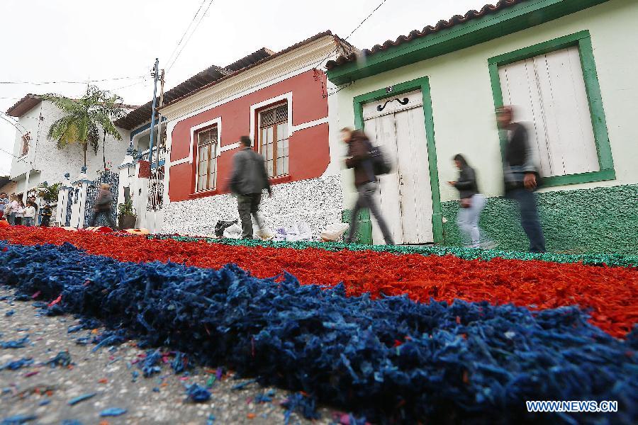
[{"label": "right-hand barred window of the red house, inside its white frame", "polygon": [[288,104],[259,113],[259,152],[264,156],[269,177],[288,174]]}]

